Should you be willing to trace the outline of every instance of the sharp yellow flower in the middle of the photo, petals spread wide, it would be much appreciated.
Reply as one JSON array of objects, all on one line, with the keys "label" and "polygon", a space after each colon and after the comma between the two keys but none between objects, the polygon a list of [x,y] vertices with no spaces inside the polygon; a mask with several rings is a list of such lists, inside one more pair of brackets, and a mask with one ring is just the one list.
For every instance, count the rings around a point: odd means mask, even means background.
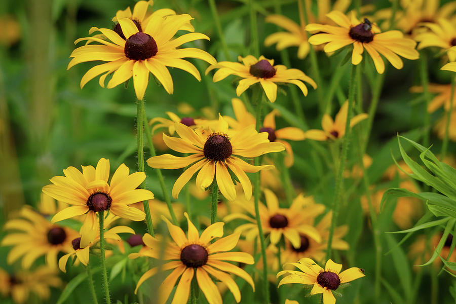
[{"label": "sharp yellow flower in the middle of the photo, petals spread wide", "polygon": [[252,184],[245,172],[258,172],[272,166],[255,167],[236,156],[253,158],[265,153],[283,151],[285,148],[280,142],[269,142],[268,134],[257,133],[254,126],[246,127],[229,136],[228,123],[221,116],[214,131],[201,128],[193,130],[179,122],[175,123],[175,129],[180,138],[163,134],[163,140],[171,149],[191,155],[177,157],[164,154],[147,160],[150,167],[160,169],[179,169],[191,165],[174,183],[172,195],[175,199],[182,187],[200,171],[196,178],[197,187],[209,187],[215,176],[220,193],[227,200],[235,200],[236,189],[229,170],[237,176],[245,197],[250,199]]}]

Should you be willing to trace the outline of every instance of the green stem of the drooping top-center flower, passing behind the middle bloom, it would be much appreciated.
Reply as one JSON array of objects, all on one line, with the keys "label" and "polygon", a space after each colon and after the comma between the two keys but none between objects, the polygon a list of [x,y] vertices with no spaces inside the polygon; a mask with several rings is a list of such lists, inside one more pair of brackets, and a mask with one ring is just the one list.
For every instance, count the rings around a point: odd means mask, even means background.
[{"label": "green stem of the drooping top-center flower, passing behind the middle bloom", "polygon": [[[260,89],[256,87],[255,89]],[[261,105],[263,103],[263,99],[265,98],[264,92],[262,93],[262,98],[258,100],[258,104],[256,106],[256,130],[259,131],[261,127]],[[260,157],[255,157],[253,160],[254,166],[260,165]],[[264,235],[263,235],[263,227],[261,226],[261,219],[259,214],[259,196],[260,196],[260,173],[259,171],[255,174],[255,184],[253,188],[253,197],[255,202],[255,218],[256,224],[258,226],[258,237],[260,239],[261,245],[261,257],[263,260],[263,292],[264,292],[264,302],[269,303],[269,282],[268,282],[268,260],[266,257],[266,244],[264,242]]]}]

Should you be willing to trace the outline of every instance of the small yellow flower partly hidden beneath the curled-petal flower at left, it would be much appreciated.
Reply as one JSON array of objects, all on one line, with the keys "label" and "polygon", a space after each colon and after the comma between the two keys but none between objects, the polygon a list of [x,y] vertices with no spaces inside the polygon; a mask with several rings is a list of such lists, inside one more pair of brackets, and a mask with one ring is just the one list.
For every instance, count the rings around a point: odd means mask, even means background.
[{"label": "small yellow flower partly hidden beneath the curled-petal flower at left", "polygon": [[[110,214],[108,217],[106,217],[106,226],[108,226],[116,219],[117,217]],[[98,230],[95,230],[95,232],[97,233],[97,236],[95,237],[94,241],[86,247],[81,246],[81,236],[71,240],[72,250],[59,259],[59,268],[62,272],[66,272],[66,263],[68,261],[68,258],[74,255],[77,257],[78,261],[83,263],[85,266],[89,264],[90,248],[93,247],[98,241],[100,241],[100,228],[98,227]],[[127,226],[115,226],[104,232],[104,239],[120,242],[122,239],[119,236],[119,233],[130,233],[134,235],[135,231]]]}]

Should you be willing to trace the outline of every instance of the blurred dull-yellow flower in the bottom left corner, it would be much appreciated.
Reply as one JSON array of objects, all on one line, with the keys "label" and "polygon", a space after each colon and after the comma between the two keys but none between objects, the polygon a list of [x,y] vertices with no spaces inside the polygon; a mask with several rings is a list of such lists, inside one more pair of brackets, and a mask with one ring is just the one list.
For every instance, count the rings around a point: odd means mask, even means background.
[{"label": "blurred dull-yellow flower in the bottom left corner", "polygon": [[51,295],[50,287],[60,286],[62,286],[62,280],[56,270],[46,266],[40,266],[33,271],[19,271],[14,275],[9,275],[0,268],[0,292],[3,295],[11,294],[17,304],[27,302],[30,293],[33,293],[34,300],[37,296],[45,302]]}]

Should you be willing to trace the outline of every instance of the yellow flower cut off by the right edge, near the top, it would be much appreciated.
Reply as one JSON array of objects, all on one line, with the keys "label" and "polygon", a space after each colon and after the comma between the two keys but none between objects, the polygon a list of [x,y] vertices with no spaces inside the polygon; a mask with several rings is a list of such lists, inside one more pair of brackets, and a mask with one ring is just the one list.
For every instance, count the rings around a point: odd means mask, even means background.
[{"label": "yellow flower cut off by the right edge, near the top", "polygon": [[439,19],[436,23],[425,22],[423,26],[431,31],[423,32],[415,36],[419,42],[417,49],[421,50],[428,47],[438,47],[448,54],[450,61],[456,60],[456,25],[446,19]]}]

